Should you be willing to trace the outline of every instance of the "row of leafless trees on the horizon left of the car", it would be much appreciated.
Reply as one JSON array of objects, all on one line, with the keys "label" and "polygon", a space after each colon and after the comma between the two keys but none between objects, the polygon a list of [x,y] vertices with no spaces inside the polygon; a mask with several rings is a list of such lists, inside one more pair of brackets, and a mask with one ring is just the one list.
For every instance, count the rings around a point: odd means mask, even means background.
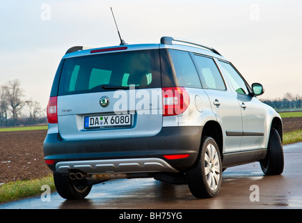
[{"label": "row of leafless trees on the horizon left of the car", "polygon": [[19,79],[0,86],[0,126],[35,125],[46,122],[40,102],[25,99]]}]

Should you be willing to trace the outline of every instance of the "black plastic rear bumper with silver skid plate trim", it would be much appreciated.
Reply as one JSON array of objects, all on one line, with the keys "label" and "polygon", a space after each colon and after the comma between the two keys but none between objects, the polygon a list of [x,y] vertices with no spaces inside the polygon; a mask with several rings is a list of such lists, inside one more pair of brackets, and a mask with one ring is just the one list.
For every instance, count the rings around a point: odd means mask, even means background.
[{"label": "black plastic rear bumper with silver skid plate trim", "polygon": [[[153,137],[65,141],[57,133],[47,134],[45,160],[52,171],[67,174],[70,169],[87,173],[177,172],[188,169],[198,156],[202,127],[165,127]],[[163,155],[190,156],[168,160]],[[122,167],[122,168],[121,168]]]}]

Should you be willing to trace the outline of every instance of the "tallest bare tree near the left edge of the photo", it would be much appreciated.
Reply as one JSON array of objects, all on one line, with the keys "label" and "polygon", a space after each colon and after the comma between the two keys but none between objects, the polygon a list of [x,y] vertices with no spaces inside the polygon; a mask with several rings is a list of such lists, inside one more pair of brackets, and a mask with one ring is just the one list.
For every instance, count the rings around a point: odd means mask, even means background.
[{"label": "tallest bare tree near the left edge of the photo", "polygon": [[6,97],[8,100],[8,110],[13,114],[13,125],[17,122],[19,112],[24,106],[22,98],[24,97],[23,91],[20,87],[19,79],[8,81],[6,85]]}]

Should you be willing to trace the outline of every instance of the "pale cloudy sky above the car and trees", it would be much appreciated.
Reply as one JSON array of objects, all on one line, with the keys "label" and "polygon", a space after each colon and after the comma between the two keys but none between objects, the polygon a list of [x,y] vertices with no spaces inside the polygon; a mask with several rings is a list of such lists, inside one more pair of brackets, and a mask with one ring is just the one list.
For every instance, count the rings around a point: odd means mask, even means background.
[{"label": "pale cloudy sky above the car and trees", "polygon": [[74,45],[106,47],[193,40],[230,59],[261,98],[302,95],[301,0],[0,0],[0,84],[19,79],[26,99],[46,107],[58,63]]}]

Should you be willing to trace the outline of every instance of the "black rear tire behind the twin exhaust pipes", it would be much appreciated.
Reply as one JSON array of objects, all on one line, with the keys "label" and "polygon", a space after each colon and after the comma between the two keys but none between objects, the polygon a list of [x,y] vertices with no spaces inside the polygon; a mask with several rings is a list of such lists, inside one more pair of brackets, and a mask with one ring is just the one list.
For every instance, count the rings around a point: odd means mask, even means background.
[{"label": "black rear tire behind the twin exhaust pipes", "polygon": [[84,180],[71,180],[69,176],[54,172],[54,185],[64,199],[84,199],[92,188],[92,185],[85,185]]}]

